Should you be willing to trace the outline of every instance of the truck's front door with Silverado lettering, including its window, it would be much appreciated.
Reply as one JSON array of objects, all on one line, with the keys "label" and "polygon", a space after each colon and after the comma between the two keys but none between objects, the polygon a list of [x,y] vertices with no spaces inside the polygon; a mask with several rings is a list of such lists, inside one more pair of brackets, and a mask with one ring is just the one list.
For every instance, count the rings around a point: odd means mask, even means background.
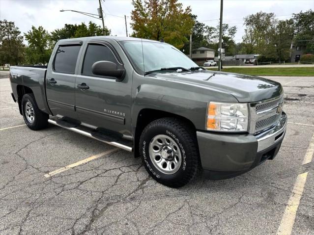
[{"label": "truck's front door with Silverado lettering, including its window", "polygon": [[[83,123],[128,136],[132,72],[126,71],[121,82],[113,77],[96,76],[91,72],[93,63],[111,61],[122,66],[114,47],[104,41],[90,41],[76,78],[76,110]],[[88,86],[87,89],[82,87]]]}]

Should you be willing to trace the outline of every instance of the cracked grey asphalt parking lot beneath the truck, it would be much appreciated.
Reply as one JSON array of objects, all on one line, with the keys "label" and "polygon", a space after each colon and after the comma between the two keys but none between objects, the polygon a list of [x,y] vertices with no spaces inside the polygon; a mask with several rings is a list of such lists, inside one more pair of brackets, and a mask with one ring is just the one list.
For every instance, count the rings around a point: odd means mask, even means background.
[{"label": "cracked grey asphalt parking lot beneath the truck", "polygon": [[29,130],[0,77],[0,235],[314,234],[314,77],[270,77],[284,86],[288,115],[274,160],[179,189],[126,151],[108,154],[112,146],[55,126]]}]

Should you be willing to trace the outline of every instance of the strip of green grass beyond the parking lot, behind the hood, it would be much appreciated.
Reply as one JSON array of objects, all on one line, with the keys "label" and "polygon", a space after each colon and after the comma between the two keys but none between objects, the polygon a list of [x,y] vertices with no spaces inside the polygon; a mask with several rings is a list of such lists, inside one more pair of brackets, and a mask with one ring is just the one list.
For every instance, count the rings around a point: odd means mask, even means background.
[{"label": "strip of green grass beyond the parking lot, behind the hood", "polygon": [[[208,69],[208,70],[218,70],[218,69]],[[223,72],[246,74],[246,75],[256,75],[256,76],[313,76],[314,77],[314,67],[289,67],[289,68],[225,68]]]}]

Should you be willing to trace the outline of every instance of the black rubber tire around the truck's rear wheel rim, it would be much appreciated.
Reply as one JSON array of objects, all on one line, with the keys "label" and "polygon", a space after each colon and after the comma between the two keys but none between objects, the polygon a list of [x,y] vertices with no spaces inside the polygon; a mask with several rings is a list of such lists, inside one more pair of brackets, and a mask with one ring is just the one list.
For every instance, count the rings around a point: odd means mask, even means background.
[{"label": "black rubber tire around the truck's rear wheel rim", "polygon": [[[33,113],[33,121],[31,122],[29,118],[27,117],[26,113],[26,105],[31,104],[32,106],[32,113]],[[32,93],[25,94],[22,98],[22,113],[23,113],[23,118],[26,123],[26,125],[29,127],[29,129],[33,131],[38,131],[42,130],[48,127],[48,119],[49,115],[47,113],[44,113],[41,111],[37,103],[35,101],[35,97]]]}]

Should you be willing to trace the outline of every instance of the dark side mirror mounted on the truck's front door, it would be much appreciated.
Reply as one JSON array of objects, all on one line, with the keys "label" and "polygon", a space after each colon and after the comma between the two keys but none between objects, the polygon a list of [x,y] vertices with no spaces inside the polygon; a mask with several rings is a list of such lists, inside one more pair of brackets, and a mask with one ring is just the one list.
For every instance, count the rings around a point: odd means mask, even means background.
[{"label": "dark side mirror mounted on the truck's front door", "polygon": [[91,66],[94,75],[114,77],[116,81],[122,81],[125,77],[125,69],[111,61],[97,61]]}]

